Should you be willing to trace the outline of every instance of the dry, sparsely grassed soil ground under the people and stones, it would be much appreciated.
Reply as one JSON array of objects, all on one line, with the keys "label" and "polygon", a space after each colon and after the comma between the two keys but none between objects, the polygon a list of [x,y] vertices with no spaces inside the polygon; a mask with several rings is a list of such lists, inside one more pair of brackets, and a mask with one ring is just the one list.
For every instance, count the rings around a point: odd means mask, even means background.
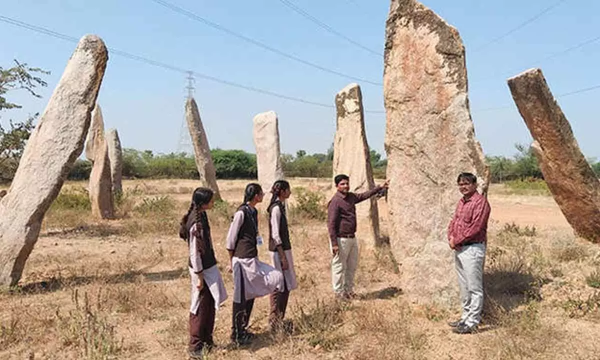
[{"label": "dry, sparsely grassed soil ground under the people and stones", "polygon": [[[331,194],[326,179],[291,182],[294,190]],[[245,184],[220,181],[229,206],[209,213],[229,291],[224,239]],[[85,186],[70,183],[63,192]],[[190,283],[187,247],[176,233],[196,186],[126,181],[119,220],[94,221],[72,204],[51,209],[20,286],[0,293],[0,359],[186,359]],[[479,334],[452,334],[446,321],[458,309],[408,301],[410,289],[385,248],[361,251],[360,298],[336,302],[325,221],[292,212],[299,289],[287,317],[294,333],[269,333],[268,299],[257,299],[251,319],[257,340],[232,347],[228,300],[217,314],[218,348],[206,359],[600,358],[598,245],[575,238],[550,196],[494,185],[489,199],[488,298]],[[261,227],[268,231],[266,221]],[[262,247],[260,257],[267,255]]]}]

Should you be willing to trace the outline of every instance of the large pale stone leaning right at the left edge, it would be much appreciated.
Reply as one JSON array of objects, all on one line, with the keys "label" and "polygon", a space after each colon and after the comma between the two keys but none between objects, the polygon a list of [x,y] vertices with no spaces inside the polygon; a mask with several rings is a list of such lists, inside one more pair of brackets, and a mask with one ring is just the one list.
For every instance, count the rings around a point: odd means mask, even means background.
[{"label": "large pale stone leaning right at the left edge", "polygon": [[83,151],[107,60],[100,38],[83,37],[29,137],[8,194],[0,202],[0,286],[19,281],[44,214]]}]

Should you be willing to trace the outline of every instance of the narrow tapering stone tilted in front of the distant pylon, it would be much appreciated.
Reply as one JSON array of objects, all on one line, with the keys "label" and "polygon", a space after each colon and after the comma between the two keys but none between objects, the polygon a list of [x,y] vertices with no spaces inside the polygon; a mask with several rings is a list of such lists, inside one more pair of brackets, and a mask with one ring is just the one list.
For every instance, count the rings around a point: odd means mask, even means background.
[{"label": "narrow tapering stone tilted in front of the distant pylon", "polygon": [[191,142],[194,145],[196,167],[200,174],[200,182],[203,187],[208,187],[215,192],[215,200],[220,200],[221,194],[217,185],[217,171],[215,170],[215,164],[212,162],[211,148],[208,145],[208,138],[202,125],[202,119],[200,119],[198,105],[192,97],[188,98],[185,103],[185,121],[187,121]]}]

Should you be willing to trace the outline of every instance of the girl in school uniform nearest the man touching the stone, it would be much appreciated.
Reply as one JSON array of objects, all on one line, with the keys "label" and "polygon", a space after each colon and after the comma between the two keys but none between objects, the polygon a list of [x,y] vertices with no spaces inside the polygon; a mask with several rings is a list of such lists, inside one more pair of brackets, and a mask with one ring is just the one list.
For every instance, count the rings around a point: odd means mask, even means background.
[{"label": "girl in school uniform nearest the man touching the stone", "polygon": [[275,181],[271,188],[273,194],[269,204],[269,251],[273,266],[283,272],[283,292],[271,293],[271,314],[269,324],[272,331],[283,331],[287,334],[292,332],[292,323],[284,322],[286,316],[287,301],[290,290],[298,287],[296,283],[296,272],[294,271],[294,259],[292,256],[292,244],[287,227],[287,215],[285,201],[292,194],[289,182],[285,180]]}]

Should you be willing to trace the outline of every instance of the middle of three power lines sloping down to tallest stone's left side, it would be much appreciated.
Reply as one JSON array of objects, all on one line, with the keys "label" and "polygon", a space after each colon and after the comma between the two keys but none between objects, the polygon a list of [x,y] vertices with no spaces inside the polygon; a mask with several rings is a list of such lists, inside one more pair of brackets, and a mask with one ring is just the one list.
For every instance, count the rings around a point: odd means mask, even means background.
[{"label": "middle of three power lines sloping down to tallest stone's left side", "polygon": [[176,13],[179,13],[179,14],[182,14],[184,16],[187,16],[187,17],[189,17],[192,20],[196,20],[198,22],[204,23],[205,25],[208,25],[211,28],[217,29],[218,31],[224,32],[224,33],[226,33],[228,35],[231,35],[233,37],[236,37],[236,38],[238,38],[240,40],[244,40],[247,43],[253,44],[254,46],[258,46],[258,47],[260,47],[262,49],[268,50],[269,52],[272,52],[272,53],[275,53],[277,55],[283,56],[284,58],[291,59],[291,60],[299,62],[301,64],[304,64],[304,65],[316,68],[318,70],[324,71],[325,73],[334,74],[334,75],[337,75],[337,76],[340,76],[340,77],[346,77],[346,79],[351,79],[351,80],[355,80],[355,81],[358,81],[358,82],[368,83],[370,85],[383,86],[383,83],[381,83],[381,82],[375,82],[375,81],[371,81],[371,80],[367,80],[367,79],[362,79],[361,77],[356,77],[356,76],[352,76],[352,75],[349,75],[349,74],[344,74],[344,73],[341,73],[340,71],[332,70],[330,68],[326,68],[326,67],[323,67],[321,65],[314,64],[313,62],[306,61],[304,59],[298,58],[298,56],[291,55],[289,53],[286,53],[286,52],[283,52],[281,50],[275,49],[274,47],[271,47],[271,46],[269,46],[269,45],[267,45],[265,43],[262,43],[262,42],[260,42],[258,40],[255,40],[253,38],[247,37],[245,35],[239,34],[239,32],[235,32],[233,30],[227,29],[224,26],[221,26],[221,25],[219,25],[219,24],[217,24],[215,22],[211,22],[210,20],[207,20],[207,19],[205,19],[202,16],[194,14],[194,13],[192,13],[189,10],[185,10],[184,8],[178,7],[177,5],[170,4],[169,2],[166,2],[166,1],[163,1],[163,0],[150,0],[150,1],[153,1],[153,2],[155,2],[157,4],[159,4],[159,5],[162,5],[163,7],[166,7],[169,10],[175,11]]}]

